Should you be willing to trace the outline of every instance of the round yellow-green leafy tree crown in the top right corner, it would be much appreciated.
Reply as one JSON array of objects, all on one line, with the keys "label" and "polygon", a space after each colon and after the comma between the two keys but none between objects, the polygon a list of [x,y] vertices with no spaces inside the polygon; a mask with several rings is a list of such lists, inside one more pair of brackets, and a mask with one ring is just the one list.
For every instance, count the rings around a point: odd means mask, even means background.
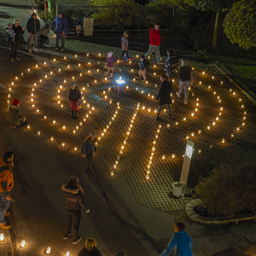
[{"label": "round yellow-green leafy tree crown in the top right corner", "polygon": [[256,3],[241,0],[234,3],[224,19],[224,32],[231,43],[244,49],[256,46]]}]

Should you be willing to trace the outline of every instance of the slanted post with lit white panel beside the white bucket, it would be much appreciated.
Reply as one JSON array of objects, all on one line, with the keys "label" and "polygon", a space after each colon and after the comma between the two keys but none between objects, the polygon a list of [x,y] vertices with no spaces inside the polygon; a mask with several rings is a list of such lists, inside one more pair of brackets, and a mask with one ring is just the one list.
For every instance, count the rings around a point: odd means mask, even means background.
[{"label": "slanted post with lit white panel beside the white bucket", "polygon": [[183,169],[180,175],[180,182],[183,183],[183,194],[185,194],[186,191],[186,186],[187,186],[187,181],[189,177],[189,167],[190,167],[190,162],[191,162],[191,157],[194,151],[194,144],[192,141],[188,140],[188,143],[186,145],[186,150],[185,150],[185,157],[183,160]]}]

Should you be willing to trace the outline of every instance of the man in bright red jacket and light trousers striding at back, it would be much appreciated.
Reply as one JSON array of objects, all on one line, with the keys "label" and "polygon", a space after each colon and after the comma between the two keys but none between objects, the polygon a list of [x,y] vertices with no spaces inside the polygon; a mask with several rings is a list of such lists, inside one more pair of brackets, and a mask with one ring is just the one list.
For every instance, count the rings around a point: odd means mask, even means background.
[{"label": "man in bright red jacket and light trousers striding at back", "polygon": [[145,58],[148,59],[148,56],[152,55],[153,52],[155,53],[156,60],[158,64],[165,64],[164,61],[160,59],[160,43],[161,43],[161,36],[159,31],[159,25],[154,25],[153,28],[149,28],[149,48],[148,52],[145,54]]}]

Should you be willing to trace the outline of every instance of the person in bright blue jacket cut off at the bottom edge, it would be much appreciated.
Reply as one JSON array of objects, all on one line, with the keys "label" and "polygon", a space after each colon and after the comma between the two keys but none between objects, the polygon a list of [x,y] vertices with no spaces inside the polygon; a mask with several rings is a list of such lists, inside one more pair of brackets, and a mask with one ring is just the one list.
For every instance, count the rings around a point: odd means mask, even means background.
[{"label": "person in bright blue jacket cut off at the bottom edge", "polygon": [[168,256],[172,252],[172,248],[175,246],[177,246],[175,256],[193,256],[193,241],[184,229],[185,224],[182,221],[176,221],[174,223],[174,235],[160,256]]}]

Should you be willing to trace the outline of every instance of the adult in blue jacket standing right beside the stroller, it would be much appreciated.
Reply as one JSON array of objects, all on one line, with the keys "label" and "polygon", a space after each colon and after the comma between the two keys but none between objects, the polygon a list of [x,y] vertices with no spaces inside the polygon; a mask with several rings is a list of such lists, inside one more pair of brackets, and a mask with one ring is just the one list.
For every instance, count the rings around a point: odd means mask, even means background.
[{"label": "adult in blue jacket standing right beside the stroller", "polygon": [[59,39],[61,38],[61,52],[64,51],[64,38],[67,36],[67,18],[62,13],[59,13],[55,20],[49,25],[50,27],[55,26],[56,31],[56,47],[54,50],[59,49]]}]

